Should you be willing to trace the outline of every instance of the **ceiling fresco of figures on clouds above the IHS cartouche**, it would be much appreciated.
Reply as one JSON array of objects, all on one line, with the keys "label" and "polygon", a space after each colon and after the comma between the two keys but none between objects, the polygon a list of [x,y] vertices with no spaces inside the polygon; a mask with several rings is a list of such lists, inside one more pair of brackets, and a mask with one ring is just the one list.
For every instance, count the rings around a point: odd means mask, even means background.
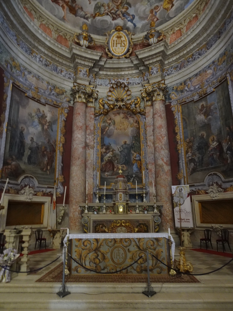
[{"label": "ceiling fresco of figures on clouds above the IHS cartouche", "polygon": [[37,0],[42,7],[67,26],[81,30],[86,23],[89,33],[104,35],[117,25],[135,34],[170,21],[194,0]]}]

